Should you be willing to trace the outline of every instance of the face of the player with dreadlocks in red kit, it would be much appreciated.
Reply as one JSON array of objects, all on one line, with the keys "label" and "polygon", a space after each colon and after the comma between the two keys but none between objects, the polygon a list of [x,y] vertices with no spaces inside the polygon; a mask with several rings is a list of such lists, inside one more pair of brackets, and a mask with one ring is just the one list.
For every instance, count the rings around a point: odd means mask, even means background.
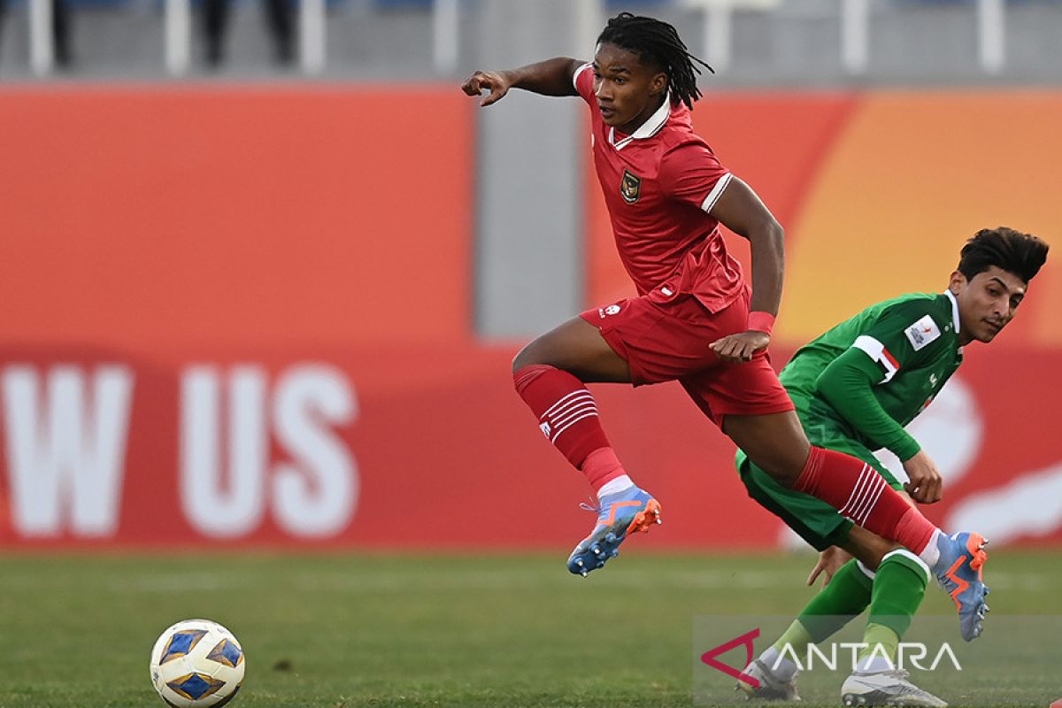
[{"label": "face of the player with dreadlocks in red kit", "polygon": [[605,125],[630,135],[649,120],[667,91],[667,74],[615,45],[594,54],[594,94]]}]

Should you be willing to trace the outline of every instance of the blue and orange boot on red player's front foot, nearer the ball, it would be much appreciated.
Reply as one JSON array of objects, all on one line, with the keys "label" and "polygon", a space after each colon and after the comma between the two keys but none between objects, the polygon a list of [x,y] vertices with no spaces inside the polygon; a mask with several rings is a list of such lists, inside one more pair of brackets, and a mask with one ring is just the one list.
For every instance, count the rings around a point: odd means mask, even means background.
[{"label": "blue and orange boot on red player's front foot, nearer the ball", "polygon": [[568,570],[583,577],[619,555],[619,545],[630,534],[649,533],[654,523],[661,522],[660,502],[633,484],[622,491],[605,495],[596,506],[581,506],[598,515],[594,531],[568,556]]}]

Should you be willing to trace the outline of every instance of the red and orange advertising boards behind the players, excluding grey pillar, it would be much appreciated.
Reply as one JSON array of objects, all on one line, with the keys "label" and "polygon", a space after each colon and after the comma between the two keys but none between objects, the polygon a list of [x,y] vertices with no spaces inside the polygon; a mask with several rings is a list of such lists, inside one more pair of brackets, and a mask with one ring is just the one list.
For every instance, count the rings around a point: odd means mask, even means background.
[{"label": "red and orange advertising boards behind the players, excluding grey pillar", "polygon": [[[566,548],[585,531],[584,483],[512,393],[518,343],[469,325],[473,108],[449,86],[404,96],[423,111],[371,87],[0,96],[0,547]],[[976,228],[1051,241],[1062,223],[1062,94],[734,93],[695,116],[788,228],[776,364],[868,303],[943,289]],[[588,179],[601,305],[629,286]],[[915,422],[947,528],[1062,542],[1058,274]],[[788,542],[675,386],[597,394],[664,501],[647,548]]]}]

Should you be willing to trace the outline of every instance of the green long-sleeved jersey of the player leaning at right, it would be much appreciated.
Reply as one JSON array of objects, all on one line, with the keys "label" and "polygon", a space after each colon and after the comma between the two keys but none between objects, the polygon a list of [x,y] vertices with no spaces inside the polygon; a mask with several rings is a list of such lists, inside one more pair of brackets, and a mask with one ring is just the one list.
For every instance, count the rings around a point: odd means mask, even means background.
[{"label": "green long-sleeved jersey of the player leaning at right", "polygon": [[[949,291],[902,295],[867,308],[801,347],[780,378],[806,430],[825,426],[871,450],[887,448],[907,460],[919,446],[903,427],[962,363],[958,330],[959,307]],[[850,353],[844,361],[871,377],[876,411],[849,400],[835,372],[823,376],[850,349],[864,355]]]}]

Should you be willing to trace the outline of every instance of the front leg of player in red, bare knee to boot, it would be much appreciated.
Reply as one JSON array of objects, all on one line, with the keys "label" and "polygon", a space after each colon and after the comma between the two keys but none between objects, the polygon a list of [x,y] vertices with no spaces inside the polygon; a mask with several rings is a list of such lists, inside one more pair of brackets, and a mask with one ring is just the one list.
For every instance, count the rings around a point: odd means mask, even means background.
[{"label": "front leg of player in red, bare knee to boot", "polygon": [[597,327],[576,317],[537,338],[513,361],[516,391],[546,437],[580,469],[597,495],[597,521],[568,557],[584,577],[619,554],[636,531],[660,523],[660,503],[627,476],[601,429],[597,403],[583,383],[630,383],[631,372]]}]

